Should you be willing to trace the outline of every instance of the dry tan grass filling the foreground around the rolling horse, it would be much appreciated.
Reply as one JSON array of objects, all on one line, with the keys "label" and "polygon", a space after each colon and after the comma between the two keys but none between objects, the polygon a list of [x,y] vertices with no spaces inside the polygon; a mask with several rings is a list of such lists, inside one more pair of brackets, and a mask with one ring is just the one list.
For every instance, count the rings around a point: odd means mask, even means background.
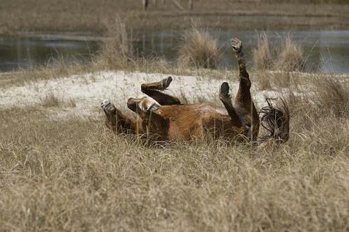
[{"label": "dry tan grass filling the foreground around the rolling horse", "polygon": [[349,89],[313,86],[334,99],[289,101],[290,140],[273,151],[209,140],[155,149],[112,136],[102,114],[0,109],[0,230],[346,231],[349,112],[324,112]]}]

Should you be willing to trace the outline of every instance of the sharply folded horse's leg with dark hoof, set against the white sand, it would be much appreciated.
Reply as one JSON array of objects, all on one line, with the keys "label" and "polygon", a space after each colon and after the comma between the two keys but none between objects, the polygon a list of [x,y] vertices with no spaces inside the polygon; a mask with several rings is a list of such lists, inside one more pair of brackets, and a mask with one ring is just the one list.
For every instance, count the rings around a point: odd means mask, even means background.
[{"label": "sharply folded horse's leg with dark hoof, set against the white sand", "polygon": [[171,81],[172,77],[167,77],[161,81],[142,83],[141,90],[160,105],[181,105],[181,101],[177,97],[161,92],[170,86]]}]

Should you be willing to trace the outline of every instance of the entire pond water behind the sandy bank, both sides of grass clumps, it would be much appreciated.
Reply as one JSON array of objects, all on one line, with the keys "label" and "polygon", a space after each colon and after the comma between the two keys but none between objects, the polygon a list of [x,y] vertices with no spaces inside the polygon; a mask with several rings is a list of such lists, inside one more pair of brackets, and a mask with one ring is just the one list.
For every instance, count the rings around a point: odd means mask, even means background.
[{"label": "entire pond water behind the sandy bank, both sides of grass clumps", "polygon": [[[240,38],[244,43],[249,65],[252,49],[257,43],[255,31],[210,31],[218,39],[222,66],[236,68],[229,39]],[[285,39],[288,32],[270,31],[268,38],[273,47]],[[175,31],[135,33],[135,50],[145,57],[161,56],[175,62],[182,42],[182,34]],[[349,73],[349,31],[291,31],[290,36],[304,44],[307,66],[329,73]],[[62,57],[68,62],[89,62],[101,47],[100,40],[88,36],[27,36],[0,38],[0,71],[18,70],[55,62]]]}]

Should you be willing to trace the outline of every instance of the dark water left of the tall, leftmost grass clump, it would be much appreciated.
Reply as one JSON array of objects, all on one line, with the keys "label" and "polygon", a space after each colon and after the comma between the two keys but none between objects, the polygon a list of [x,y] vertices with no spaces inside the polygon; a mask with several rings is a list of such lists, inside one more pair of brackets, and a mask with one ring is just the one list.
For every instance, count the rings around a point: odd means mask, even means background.
[{"label": "dark water left of the tall, leftmost grass clump", "polygon": [[0,71],[66,62],[90,62],[99,42],[78,36],[0,38]]}]

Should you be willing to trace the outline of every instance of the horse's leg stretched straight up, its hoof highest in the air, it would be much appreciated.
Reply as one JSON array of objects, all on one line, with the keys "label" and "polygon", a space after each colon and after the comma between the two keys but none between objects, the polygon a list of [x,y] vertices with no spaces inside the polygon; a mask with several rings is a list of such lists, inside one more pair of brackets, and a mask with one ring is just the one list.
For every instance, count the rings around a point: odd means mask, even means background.
[{"label": "horse's leg stretched straight up, its hoof highest in the air", "polygon": [[235,105],[245,109],[246,112],[248,112],[248,114],[251,116],[251,136],[253,141],[257,141],[259,132],[259,115],[250,94],[251,81],[246,71],[246,61],[244,53],[242,53],[241,40],[231,38],[231,47],[233,47],[233,51],[235,52],[235,57],[237,59],[237,63],[239,64],[240,72],[239,90],[237,90],[237,94],[235,96]]}]

